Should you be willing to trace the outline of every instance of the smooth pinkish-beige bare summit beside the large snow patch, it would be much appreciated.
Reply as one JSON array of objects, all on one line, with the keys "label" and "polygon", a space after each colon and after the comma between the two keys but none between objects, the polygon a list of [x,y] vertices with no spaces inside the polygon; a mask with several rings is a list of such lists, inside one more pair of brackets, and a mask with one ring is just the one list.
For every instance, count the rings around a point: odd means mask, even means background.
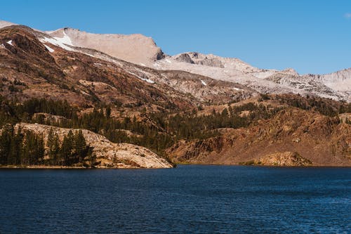
[{"label": "smooth pinkish-beige bare summit beside the large snow patch", "polygon": [[138,65],[150,65],[164,57],[151,37],[142,34],[93,34],[64,28],[47,32],[51,37],[65,39],[68,44],[82,48],[93,48],[108,55]]}]

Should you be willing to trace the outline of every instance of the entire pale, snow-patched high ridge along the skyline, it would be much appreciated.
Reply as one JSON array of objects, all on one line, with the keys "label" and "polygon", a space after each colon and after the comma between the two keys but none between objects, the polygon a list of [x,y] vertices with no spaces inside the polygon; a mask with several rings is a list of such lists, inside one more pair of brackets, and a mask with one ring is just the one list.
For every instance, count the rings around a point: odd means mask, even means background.
[{"label": "entire pale, snow-patched high ridge along the skyline", "polygon": [[[0,27],[9,25],[14,24],[0,21]],[[152,38],[141,34],[93,34],[71,28],[36,32],[38,39],[48,51],[54,51],[50,46],[53,44],[67,51],[86,53],[102,60],[123,63],[128,67],[127,72],[149,83],[158,80],[158,82],[168,82],[168,85],[182,86],[185,90],[192,91],[193,89],[185,88],[187,86],[185,79],[169,82],[165,72],[178,70],[218,81],[241,84],[259,93],[300,93],[351,102],[351,69],[331,74],[301,75],[291,68],[281,71],[265,70],[253,67],[238,58],[223,58],[211,54],[188,52],[168,56],[157,47]],[[140,67],[135,69],[131,65],[127,66],[124,61]],[[155,77],[154,72],[147,72],[147,67],[163,71],[163,76],[159,76],[162,78]],[[208,89],[205,79],[197,79],[201,89]]]}]

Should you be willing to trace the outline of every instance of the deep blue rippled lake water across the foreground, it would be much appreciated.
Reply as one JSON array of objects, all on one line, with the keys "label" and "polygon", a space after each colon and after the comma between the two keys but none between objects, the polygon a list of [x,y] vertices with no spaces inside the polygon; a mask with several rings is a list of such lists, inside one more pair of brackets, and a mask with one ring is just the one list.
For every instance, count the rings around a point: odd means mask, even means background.
[{"label": "deep blue rippled lake water across the foreground", "polygon": [[351,233],[351,168],[1,169],[0,233]]}]

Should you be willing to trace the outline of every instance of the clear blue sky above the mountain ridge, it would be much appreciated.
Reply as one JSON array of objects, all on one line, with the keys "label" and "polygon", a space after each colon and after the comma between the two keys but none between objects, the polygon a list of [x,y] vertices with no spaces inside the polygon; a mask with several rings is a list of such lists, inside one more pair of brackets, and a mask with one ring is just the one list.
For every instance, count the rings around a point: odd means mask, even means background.
[{"label": "clear blue sky above the mountain ridge", "polygon": [[174,55],[235,57],[300,74],[351,67],[350,0],[1,1],[0,19],[38,30],[152,37]]}]

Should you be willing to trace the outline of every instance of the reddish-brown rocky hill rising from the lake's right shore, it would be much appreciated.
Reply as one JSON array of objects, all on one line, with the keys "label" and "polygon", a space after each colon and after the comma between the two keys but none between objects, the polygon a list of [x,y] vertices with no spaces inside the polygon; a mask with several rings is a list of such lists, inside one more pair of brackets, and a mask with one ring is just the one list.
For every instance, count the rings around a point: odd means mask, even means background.
[{"label": "reddish-brown rocky hill rising from the lake's right shore", "polygon": [[179,141],[168,154],[180,163],[350,166],[351,126],[337,117],[291,108],[247,129]]}]

